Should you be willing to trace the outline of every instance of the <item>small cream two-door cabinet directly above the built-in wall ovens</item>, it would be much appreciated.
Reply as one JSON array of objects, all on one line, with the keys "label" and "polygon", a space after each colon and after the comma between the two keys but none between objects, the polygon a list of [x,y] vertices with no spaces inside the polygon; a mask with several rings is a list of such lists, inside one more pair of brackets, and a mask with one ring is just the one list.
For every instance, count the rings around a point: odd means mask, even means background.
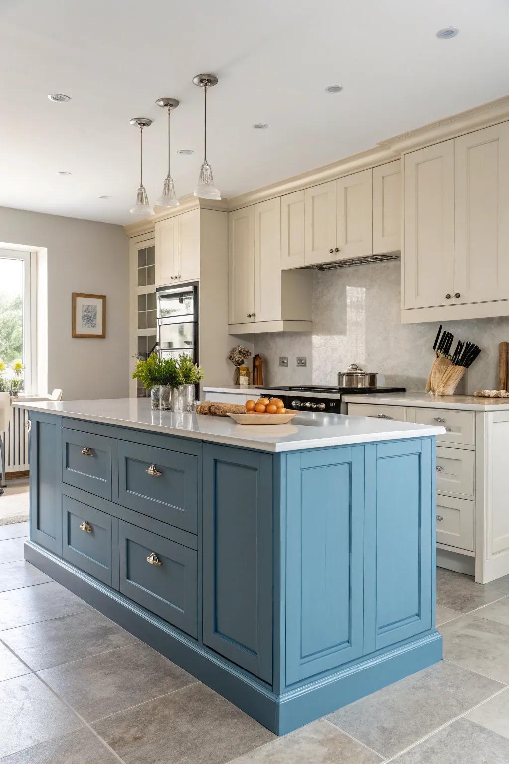
[{"label": "small cream two-door cabinet directly above the built-in wall ovens", "polygon": [[200,277],[200,210],[156,222],[156,286]]}]

